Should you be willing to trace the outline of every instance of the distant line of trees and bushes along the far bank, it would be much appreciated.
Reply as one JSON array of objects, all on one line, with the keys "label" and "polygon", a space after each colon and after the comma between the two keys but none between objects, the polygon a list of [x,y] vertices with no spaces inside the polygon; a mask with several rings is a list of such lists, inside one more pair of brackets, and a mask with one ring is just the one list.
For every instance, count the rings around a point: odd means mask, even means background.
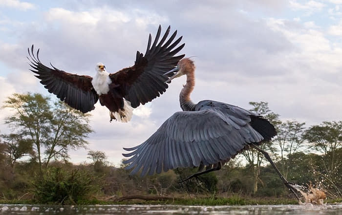
[{"label": "distant line of trees and bushes along the far bank", "polygon": [[[329,198],[342,198],[342,122],[281,121],[266,102],[250,102],[251,110],[269,119],[278,135],[262,148],[290,182],[324,189]],[[12,133],[0,134],[0,198],[33,199],[37,203],[75,204],[85,199],[153,194],[158,196],[232,195],[293,197],[262,154],[250,149],[220,171],[182,179],[196,168],[140,177],[129,176],[124,165],[108,165],[103,151],[89,151],[91,164],[68,162],[69,150],[85,147],[93,132],[89,114],[38,93],[13,94],[3,108]],[[23,156],[29,159],[21,161]],[[85,158],[86,159],[86,158]]]}]

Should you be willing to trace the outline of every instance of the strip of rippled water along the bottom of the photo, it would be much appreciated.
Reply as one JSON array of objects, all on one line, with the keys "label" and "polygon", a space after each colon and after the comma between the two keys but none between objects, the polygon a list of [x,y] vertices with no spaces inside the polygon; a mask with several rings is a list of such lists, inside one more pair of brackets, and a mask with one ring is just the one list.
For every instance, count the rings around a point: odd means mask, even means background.
[{"label": "strip of rippled water along the bottom of the photo", "polygon": [[342,203],[329,205],[0,205],[0,215],[342,215]]}]

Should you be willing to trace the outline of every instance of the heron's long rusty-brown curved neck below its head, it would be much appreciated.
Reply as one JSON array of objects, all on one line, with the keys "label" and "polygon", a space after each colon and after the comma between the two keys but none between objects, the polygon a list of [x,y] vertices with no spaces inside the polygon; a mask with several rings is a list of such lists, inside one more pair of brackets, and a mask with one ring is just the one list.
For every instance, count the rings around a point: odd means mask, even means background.
[{"label": "heron's long rusty-brown curved neck below its head", "polygon": [[190,99],[190,94],[195,86],[195,74],[194,71],[187,73],[187,83],[183,86],[183,89],[179,94],[180,107],[184,111],[193,111],[195,104]]}]

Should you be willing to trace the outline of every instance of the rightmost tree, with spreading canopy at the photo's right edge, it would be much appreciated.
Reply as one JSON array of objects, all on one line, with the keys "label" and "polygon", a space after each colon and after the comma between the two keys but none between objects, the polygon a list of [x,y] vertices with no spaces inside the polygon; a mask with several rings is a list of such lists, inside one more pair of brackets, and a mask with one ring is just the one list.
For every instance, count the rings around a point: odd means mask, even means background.
[{"label": "rightmost tree, with spreading canopy at the photo's right edge", "polygon": [[336,150],[342,147],[342,121],[322,122],[306,130],[304,138],[312,147],[328,157],[328,170],[334,171],[338,164]]}]

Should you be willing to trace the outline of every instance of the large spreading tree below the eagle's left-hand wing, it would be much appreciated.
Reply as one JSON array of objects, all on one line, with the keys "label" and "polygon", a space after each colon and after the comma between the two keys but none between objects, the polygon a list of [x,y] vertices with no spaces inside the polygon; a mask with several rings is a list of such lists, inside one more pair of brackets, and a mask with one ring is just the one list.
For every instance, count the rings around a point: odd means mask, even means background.
[{"label": "large spreading tree below the eagle's left-hand wing", "polygon": [[33,142],[41,172],[44,161],[46,168],[52,158],[65,160],[70,149],[85,147],[85,138],[92,132],[89,114],[61,101],[51,104],[49,97],[39,93],[15,93],[3,108],[14,110],[5,123]]}]

